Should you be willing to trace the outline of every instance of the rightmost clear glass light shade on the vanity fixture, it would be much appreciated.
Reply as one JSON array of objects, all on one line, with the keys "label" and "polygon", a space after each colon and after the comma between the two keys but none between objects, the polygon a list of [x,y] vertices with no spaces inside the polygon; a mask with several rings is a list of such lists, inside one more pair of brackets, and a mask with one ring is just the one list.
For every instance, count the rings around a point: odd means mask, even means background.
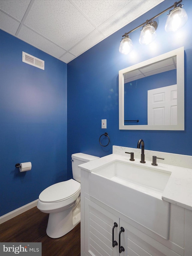
[{"label": "rightmost clear glass light shade on the vanity fixture", "polygon": [[165,24],[165,31],[177,31],[182,28],[187,22],[187,13],[181,7],[176,7],[173,9],[169,16],[167,17],[167,22]]}]

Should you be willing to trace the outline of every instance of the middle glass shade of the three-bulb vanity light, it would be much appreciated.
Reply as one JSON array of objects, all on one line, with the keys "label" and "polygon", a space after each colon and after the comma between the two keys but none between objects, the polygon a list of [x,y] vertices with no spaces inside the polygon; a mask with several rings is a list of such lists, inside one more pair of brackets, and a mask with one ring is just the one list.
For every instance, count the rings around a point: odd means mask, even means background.
[{"label": "middle glass shade of the three-bulb vanity light", "polygon": [[148,24],[142,30],[139,38],[140,44],[150,44],[156,38],[155,28]]}]

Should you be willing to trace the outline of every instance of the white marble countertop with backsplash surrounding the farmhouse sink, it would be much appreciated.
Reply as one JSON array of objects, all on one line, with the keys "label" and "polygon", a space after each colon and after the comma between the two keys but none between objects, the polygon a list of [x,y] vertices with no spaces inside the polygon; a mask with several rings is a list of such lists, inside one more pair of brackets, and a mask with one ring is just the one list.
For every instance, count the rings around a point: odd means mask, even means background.
[{"label": "white marble countertop with backsplash surrounding the farmhouse sink", "polygon": [[[132,151],[131,151],[132,150]],[[135,161],[129,161],[130,154],[125,154],[125,152],[134,152]],[[166,155],[167,159],[163,160],[157,159],[158,166],[152,166],[152,155],[157,155],[158,157],[163,157],[164,152],[156,152],[148,150],[147,157],[145,159],[146,163],[140,163],[140,149],[122,148],[119,146],[113,146],[113,154],[104,156],[102,158],[95,159],[94,161],[87,162],[85,164],[79,165],[79,168],[92,172],[99,167],[108,164],[111,161],[127,161],[130,165],[138,165],[144,168],[152,168],[153,170],[163,171],[171,173],[167,185],[162,193],[162,200],[169,203],[176,204],[178,206],[184,207],[186,209],[192,210],[192,169],[187,167],[192,167],[192,156],[177,155],[169,153]],[[115,153],[114,153],[115,152]],[[138,153],[137,153],[138,152]],[[178,159],[178,165],[171,164],[173,158]],[[151,159],[151,160],[148,160]],[[187,164],[186,164],[187,159]],[[168,163],[168,164],[167,164]],[[176,164],[176,162],[174,162]],[[187,166],[187,167],[183,167]]]}]

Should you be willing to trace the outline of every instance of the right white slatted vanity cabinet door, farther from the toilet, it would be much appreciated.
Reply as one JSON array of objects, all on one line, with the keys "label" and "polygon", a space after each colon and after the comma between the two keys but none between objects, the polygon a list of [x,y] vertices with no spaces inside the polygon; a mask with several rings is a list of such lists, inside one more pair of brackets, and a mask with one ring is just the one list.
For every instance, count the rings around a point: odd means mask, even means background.
[{"label": "right white slatted vanity cabinet door, farther from the toilet", "polygon": [[179,256],[175,251],[146,235],[137,228],[120,219],[121,246],[125,248],[120,256]]}]

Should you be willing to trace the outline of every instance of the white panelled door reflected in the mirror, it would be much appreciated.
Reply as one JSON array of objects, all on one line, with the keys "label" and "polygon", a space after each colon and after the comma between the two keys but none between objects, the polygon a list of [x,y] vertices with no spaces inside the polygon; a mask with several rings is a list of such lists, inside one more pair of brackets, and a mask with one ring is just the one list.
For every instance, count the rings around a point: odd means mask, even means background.
[{"label": "white panelled door reflected in the mirror", "polygon": [[177,124],[177,85],[148,91],[148,125]]}]

